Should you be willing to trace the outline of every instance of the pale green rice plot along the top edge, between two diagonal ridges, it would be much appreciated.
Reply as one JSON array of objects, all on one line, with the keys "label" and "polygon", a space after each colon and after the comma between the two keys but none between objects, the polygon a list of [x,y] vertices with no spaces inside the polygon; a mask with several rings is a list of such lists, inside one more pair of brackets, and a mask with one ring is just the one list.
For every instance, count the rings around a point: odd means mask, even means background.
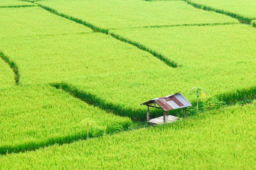
[{"label": "pale green rice plot along the top edge, between two diagonal ridges", "polygon": [[[82,20],[99,29],[182,24],[238,23],[225,15],[195,9],[181,1],[148,3],[143,0],[47,0],[36,4],[49,11]],[[121,19],[120,19],[121,18]]]}]

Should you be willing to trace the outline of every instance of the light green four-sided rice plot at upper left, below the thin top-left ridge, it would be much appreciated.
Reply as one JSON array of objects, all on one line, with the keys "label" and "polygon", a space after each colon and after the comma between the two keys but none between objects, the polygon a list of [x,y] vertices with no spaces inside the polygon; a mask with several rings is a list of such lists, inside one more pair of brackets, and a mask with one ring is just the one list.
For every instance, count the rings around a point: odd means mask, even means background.
[{"label": "light green four-sided rice plot at upper left, below the thin top-left ridge", "polygon": [[[17,1],[19,2],[19,1]],[[90,33],[80,24],[52,15],[39,7],[0,8],[0,37]],[[39,37],[38,37],[39,38]]]}]

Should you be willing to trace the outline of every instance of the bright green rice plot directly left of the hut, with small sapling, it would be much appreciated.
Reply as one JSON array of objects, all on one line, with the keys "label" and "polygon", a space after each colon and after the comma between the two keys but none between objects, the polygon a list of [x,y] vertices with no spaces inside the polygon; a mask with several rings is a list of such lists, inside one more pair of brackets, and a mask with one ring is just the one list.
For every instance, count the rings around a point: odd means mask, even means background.
[{"label": "bright green rice plot directly left of the hut, with small sapling", "polygon": [[[99,136],[102,127],[113,134],[118,125],[131,126],[130,119],[106,113],[49,85],[0,90],[0,101],[0,154]],[[95,120],[89,133],[81,126],[84,119]]]}]

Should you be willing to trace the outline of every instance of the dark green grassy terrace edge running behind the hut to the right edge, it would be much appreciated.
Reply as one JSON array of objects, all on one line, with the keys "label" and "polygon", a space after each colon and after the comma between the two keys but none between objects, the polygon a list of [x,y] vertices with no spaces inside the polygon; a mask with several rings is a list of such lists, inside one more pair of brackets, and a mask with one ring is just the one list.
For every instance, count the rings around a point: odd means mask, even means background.
[{"label": "dark green grassy terrace edge running behind the hut to the right edge", "polygon": [[[65,82],[54,83],[51,85],[57,89],[61,89],[67,92],[68,94],[86,102],[89,105],[99,107],[100,109],[108,113],[111,112],[118,116],[126,116],[136,121],[141,121],[141,122],[146,121],[145,110],[143,109],[125,108],[122,105],[106,102],[104,99],[101,99],[99,96],[96,96],[95,94],[90,94],[85,91],[81,91],[78,88],[72,85],[68,85]],[[256,86],[239,89],[235,92],[219,94],[219,95],[216,95],[216,97],[220,101],[226,102],[227,105],[234,105],[239,102],[247,103],[253,99],[256,99]],[[194,106],[196,105],[196,101],[192,101],[191,103]],[[181,114],[180,109],[173,110],[170,112],[170,114],[174,114],[174,115],[179,115],[179,113]],[[151,113],[151,118],[155,118],[161,115],[162,115],[162,111],[156,110],[155,112]]]}]

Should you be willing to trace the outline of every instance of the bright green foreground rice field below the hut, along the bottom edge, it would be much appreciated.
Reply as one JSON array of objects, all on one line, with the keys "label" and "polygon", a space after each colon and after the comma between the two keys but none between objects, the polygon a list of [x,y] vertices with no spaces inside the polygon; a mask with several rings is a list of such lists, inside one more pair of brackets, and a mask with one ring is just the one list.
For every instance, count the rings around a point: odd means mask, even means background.
[{"label": "bright green foreground rice field below the hut, along the bottom edge", "polygon": [[[1,156],[7,169],[255,169],[256,105]],[[166,161],[168,160],[168,161]]]}]

